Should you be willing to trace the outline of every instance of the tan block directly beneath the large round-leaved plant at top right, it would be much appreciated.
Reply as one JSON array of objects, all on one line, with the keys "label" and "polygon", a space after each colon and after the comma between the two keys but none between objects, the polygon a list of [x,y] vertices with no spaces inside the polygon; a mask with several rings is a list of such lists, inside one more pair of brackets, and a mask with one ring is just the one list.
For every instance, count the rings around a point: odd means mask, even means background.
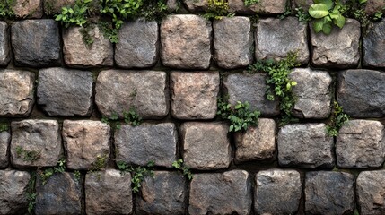
[{"label": "tan block directly beneath the large round-leaved plant at top right", "polygon": [[329,35],[311,27],[311,63],[328,68],[354,68],[360,61],[360,22],[346,19],[343,29],[333,25]]}]

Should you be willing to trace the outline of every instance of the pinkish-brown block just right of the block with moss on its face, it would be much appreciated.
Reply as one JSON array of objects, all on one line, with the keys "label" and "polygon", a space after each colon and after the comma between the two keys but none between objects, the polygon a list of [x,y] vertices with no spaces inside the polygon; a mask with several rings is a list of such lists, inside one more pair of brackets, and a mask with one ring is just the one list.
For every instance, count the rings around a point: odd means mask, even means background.
[{"label": "pinkish-brown block just right of the block with moss on its face", "polygon": [[67,168],[90,169],[98,157],[109,160],[109,125],[100,121],[65,120],[62,135]]}]

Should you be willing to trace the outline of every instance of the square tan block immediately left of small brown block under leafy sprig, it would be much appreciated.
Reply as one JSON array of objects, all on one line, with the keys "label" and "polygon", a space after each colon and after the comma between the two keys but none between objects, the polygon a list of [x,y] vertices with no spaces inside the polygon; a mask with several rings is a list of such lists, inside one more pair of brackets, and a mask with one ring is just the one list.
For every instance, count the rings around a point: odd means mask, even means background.
[{"label": "square tan block immediately left of small brown block under leafy sprig", "polygon": [[209,170],[228,168],[232,150],[228,125],[190,122],[180,126],[183,159],[190,168]]}]

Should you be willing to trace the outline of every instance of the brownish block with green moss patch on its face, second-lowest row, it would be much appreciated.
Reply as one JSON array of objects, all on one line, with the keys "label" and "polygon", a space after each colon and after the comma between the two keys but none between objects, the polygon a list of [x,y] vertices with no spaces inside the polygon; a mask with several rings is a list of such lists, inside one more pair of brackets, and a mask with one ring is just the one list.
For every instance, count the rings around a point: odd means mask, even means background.
[{"label": "brownish block with green moss patch on its face, second-lowest row", "polygon": [[[56,120],[26,119],[13,121],[11,140],[11,163],[16,168],[53,167],[63,155],[59,125]],[[28,160],[24,152],[37,152],[39,159]]]}]

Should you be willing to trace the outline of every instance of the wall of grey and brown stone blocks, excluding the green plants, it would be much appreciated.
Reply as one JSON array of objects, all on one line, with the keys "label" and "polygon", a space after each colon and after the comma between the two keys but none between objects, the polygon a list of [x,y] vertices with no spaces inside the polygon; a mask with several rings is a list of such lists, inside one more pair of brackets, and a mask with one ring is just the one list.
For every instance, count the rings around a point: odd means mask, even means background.
[{"label": "wall of grey and brown stone blocks, excluding the green plants", "polygon": [[[206,1],[184,4],[161,23],[125,22],[116,45],[94,26],[87,47],[39,0],[0,22],[0,122],[10,125],[0,132],[0,213],[384,214],[385,21],[363,34],[348,19],[326,36],[276,18],[285,1],[229,0],[236,16],[214,22],[197,15]],[[243,70],[289,52],[301,63],[290,74],[299,122],[280,127],[267,74]],[[228,133],[216,116],[224,94],[258,108],[258,126]],[[335,99],[352,116],[337,138],[326,131]],[[144,124],[101,122],[132,107]],[[66,171],[44,181],[63,157]],[[154,176],[133,193],[119,161],[154,161]]]}]

